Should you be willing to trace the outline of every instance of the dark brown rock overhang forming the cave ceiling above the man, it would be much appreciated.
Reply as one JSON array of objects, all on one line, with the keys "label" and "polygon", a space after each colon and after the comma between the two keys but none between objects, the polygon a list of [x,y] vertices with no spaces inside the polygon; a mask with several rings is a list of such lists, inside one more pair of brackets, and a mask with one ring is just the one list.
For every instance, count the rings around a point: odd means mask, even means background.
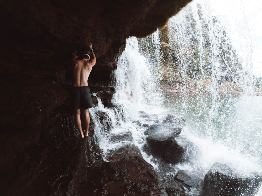
[{"label": "dark brown rock overhang forming the cave ceiling above the man", "polygon": [[93,71],[116,69],[126,38],[152,33],[188,2],[2,1],[1,77],[18,71],[52,75],[75,50],[86,52],[89,42],[97,57]]}]

